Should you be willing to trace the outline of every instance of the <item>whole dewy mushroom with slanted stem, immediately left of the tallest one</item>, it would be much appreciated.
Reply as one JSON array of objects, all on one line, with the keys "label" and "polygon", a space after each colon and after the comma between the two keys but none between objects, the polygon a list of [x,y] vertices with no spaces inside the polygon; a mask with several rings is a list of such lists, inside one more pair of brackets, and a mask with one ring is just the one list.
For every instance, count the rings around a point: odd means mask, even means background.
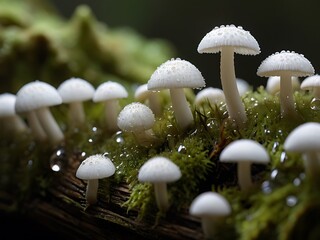
[{"label": "whole dewy mushroom with slanted stem, immediately left of the tallest one", "polygon": [[148,81],[149,90],[170,90],[175,119],[181,130],[187,129],[194,122],[184,88],[204,86],[205,81],[201,72],[192,63],[180,58],[162,63]]}]

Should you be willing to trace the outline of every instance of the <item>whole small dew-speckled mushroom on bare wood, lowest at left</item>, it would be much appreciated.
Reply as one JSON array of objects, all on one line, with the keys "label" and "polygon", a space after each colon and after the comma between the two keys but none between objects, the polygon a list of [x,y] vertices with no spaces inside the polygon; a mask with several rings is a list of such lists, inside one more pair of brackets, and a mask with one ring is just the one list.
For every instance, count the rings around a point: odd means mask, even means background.
[{"label": "whole small dew-speckled mushroom on bare wood, lowest at left", "polygon": [[110,177],[114,173],[114,164],[103,154],[91,155],[81,162],[76,177],[88,181],[86,201],[89,205],[97,202],[99,179]]}]

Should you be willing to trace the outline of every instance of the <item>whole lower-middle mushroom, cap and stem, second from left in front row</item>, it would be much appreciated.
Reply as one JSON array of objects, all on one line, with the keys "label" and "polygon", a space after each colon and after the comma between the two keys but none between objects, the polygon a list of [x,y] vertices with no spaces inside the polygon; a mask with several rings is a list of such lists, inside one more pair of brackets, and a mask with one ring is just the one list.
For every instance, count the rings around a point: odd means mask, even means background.
[{"label": "whole lower-middle mushroom, cap and stem, second from left in front row", "polygon": [[175,182],[181,178],[180,168],[170,159],[155,156],[146,161],[139,169],[138,180],[152,183],[156,203],[161,212],[169,208],[167,183]]}]

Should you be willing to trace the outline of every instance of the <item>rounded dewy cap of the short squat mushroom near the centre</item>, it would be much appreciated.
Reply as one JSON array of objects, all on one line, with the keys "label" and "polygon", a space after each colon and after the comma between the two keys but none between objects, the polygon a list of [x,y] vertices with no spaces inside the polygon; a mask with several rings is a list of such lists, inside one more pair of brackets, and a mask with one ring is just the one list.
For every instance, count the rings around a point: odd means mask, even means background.
[{"label": "rounded dewy cap of the short squat mushroom near the centre", "polygon": [[132,102],[126,105],[118,115],[118,127],[123,131],[139,132],[153,127],[155,117],[152,110],[140,103]]}]

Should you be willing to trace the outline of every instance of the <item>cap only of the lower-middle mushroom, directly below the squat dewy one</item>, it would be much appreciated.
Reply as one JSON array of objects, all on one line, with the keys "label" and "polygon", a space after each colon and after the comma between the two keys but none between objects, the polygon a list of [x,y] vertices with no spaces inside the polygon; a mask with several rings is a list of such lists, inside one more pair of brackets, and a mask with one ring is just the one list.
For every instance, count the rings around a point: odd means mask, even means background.
[{"label": "cap only of the lower-middle mushroom, directly below the squat dewy one", "polygon": [[180,179],[180,168],[170,159],[156,156],[146,161],[139,170],[140,182],[174,182]]}]

